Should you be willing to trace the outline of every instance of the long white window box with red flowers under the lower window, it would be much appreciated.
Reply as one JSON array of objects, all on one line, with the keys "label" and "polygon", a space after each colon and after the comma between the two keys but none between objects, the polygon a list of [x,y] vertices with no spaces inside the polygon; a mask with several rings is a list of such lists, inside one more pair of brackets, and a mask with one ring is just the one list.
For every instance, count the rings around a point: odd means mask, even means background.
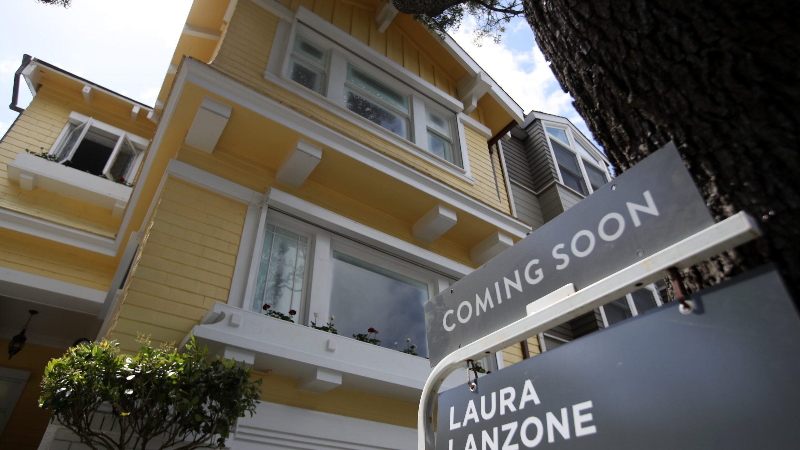
[{"label": "long white window box with red flowers under the lower window", "polygon": [[[410,402],[419,400],[431,372],[425,358],[225,303],[214,303],[191,333],[198,344],[219,355],[235,348],[254,356],[256,370],[270,369],[304,380],[317,369],[325,369],[342,374],[341,388]],[[442,389],[454,388],[463,378],[459,371]]]}]

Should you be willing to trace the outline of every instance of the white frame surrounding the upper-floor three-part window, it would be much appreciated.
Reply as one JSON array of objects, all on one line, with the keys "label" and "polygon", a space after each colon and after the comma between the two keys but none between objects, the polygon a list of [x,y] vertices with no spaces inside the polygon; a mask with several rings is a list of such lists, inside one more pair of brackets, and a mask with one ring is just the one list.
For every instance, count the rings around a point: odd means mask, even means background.
[{"label": "white frame surrounding the upper-floor three-part window", "polygon": [[[324,95],[299,85],[287,76],[290,56],[294,49],[294,40],[298,32],[304,38],[329,52]],[[384,82],[394,90],[408,95],[410,106],[408,139],[395,135],[343,105],[343,87],[345,85],[348,62]],[[450,172],[466,183],[474,184],[474,179],[472,179],[470,172],[466,135],[461,120],[462,115],[459,114],[463,110],[462,102],[459,102],[449,94],[443,93],[422,78],[411,74],[402,66],[390,61],[389,58],[380,54],[376,55],[376,52],[369,46],[353,38],[350,34],[339,30],[336,26],[319,18],[309,10],[301,7],[292,22],[279,21],[264,78],[312,102],[326,103],[326,106],[340,115],[342,119],[357,123],[359,126],[390,140],[398,147],[435,163],[438,167]],[[444,116],[450,122],[453,151],[460,155],[462,167],[428,151],[426,108],[430,108],[438,115]]]}]

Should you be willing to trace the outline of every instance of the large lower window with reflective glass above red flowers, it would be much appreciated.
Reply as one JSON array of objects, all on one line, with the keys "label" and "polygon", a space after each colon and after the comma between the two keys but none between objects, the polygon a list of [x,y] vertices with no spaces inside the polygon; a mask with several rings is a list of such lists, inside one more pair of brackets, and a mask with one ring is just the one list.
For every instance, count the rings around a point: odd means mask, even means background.
[{"label": "large lower window with reflective glass above red flowers", "polygon": [[[296,311],[295,323],[318,326],[333,315],[339,335],[371,327],[381,347],[414,344],[418,356],[428,356],[422,305],[452,280],[274,210],[265,214],[262,237],[248,289],[252,311],[266,314],[268,304],[285,315]],[[310,279],[326,281],[312,293]]]}]

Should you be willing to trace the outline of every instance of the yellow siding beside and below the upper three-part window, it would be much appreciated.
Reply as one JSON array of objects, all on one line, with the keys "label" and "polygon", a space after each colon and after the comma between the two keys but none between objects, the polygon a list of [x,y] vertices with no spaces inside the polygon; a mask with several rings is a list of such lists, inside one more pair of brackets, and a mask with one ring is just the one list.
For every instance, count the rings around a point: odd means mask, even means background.
[{"label": "yellow siding beside and below the upper three-part window", "polygon": [[[333,3],[334,2],[331,2],[331,4]],[[315,6],[315,8],[316,7],[317,6]],[[354,9],[358,8],[354,7]],[[333,8],[331,8],[331,17],[333,17],[333,11]],[[370,22],[374,23],[374,19],[370,19]],[[414,151],[408,151],[397,147],[394,143],[383,139],[380,135],[369,131],[365,127],[343,119],[342,115],[332,110],[330,106],[306,100],[305,98],[301,98],[296,94],[292,94],[276,86],[272,82],[268,82],[263,77],[263,74],[266,69],[266,62],[269,58],[270,47],[272,46],[277,26],[278,18],[273,14],[257,6],[254,2],[239,2],[231,18],[230,26],[228,26],[225,41],[222,42],[218,56],[214,59],[214,62],[211,63],[211,66],[235,78],[246,86],[249,86],[256,92],[264,94],[286,106],[290,106],[292,109],[298,111],[298,113],[306,115],[322,123],[326,127],[330,127],[342,133],[342,135],[346,135],[350,139],[354,139],[373,148],[375,151],[379,151],[410,167],[414,167],[418,171],[429,175],[431,178],[438,179],[442,181],[442,183],[446,183],[458,191],[462,191],[466,195],[470,195],[474,199],[478,199],[499,211],[510,214],[510,205],[506,195],[505,182],[502,178],[502,167],[498,163],[496,152],[494,165],[495,171],[498,174],[500,201],[498,201],[497,191],[494,187],[494,176],[491,172],[491,162],[486,146],[486,139],[483,139],[477,132],[471,130],[466,132],[470,167],[472,168],[475,179],[475,183],[470,184],[449,171],[442,169],[442,167],[431,163],[430,160],[426,159],[424,156],[418,155]],[[391,29],[390,27],[390,30]],[[371,35],[372,32],[370,31],[370,36]],[[386,35],[391,34],[387,33]],[[398,42],[399,49],[402,50],[402,39]],[[370,46],[371,45],[370,43]],[[422,50],[418,49],[418,54],[421,55],[419,61],[422,67],[422,61],[424,59],[422,58]],[[402,55],[400,58],[402,58]],[[436,68],[435,66],[431,67],[431,70],[434,72],[431,75],[434,76],[435,81]]]}]

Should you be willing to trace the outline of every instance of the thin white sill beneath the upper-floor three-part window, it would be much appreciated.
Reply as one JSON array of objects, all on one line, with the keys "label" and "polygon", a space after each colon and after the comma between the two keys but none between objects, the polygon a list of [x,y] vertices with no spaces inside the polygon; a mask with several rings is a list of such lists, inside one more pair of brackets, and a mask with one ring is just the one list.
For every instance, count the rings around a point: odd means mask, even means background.
[{"label": "thin white sill beneath the upper-floor three-part window", "polygon": [[[419,147],[415,143],[407,141],[406,139],[399,138],[397,135],[394,135],[394,133],[392,133],[391,131],[387,131],[382,127],[378,127],[378,125],[370,122],[367,119],[364,119],[360,115],[355,114],[353,111],[348,110],[346,107],[330,101],[330,98],[327,98],[324,95],[318,94],[314,91],[306,90],[305,88],[298,86],[297,83],[291,81],[285,76],[278,76],[270,72],[265,72],[264,78],[270,82],[274,82],[283,89],[289,90],[291,93],[297,94],[298,96],[310,102],[314,103],[325,102],[326,105],[329,106],[328,110],[334,112],[334,114],[337,114],[342,119],[345,119],[350,123],[355,123],[360,127],[366,128],[368,131],[372,131],[375,135],[379,135],[383,139],[389,140],[391,143],[394,143],[394,145],[402,148],[405,151],[420,156],[423,159],[427,159],[428,162],[434,164],[435,167],[438,167],[439,169],[446,171],[450,175],[456,176],[458,179],[461,179],[465,183],[469,183],[470,185],[475,184],[475,180],[462,167],[458,167],[454,163],[450,163],[450,161],[447,161],[446,159],[439,158],[438,156],[430,153],[430,151],[426,151],[422,147]],[[462,157],[466,158],[466,151],[462,151]],[[414,168],[416,169],[417,167]]]}]

